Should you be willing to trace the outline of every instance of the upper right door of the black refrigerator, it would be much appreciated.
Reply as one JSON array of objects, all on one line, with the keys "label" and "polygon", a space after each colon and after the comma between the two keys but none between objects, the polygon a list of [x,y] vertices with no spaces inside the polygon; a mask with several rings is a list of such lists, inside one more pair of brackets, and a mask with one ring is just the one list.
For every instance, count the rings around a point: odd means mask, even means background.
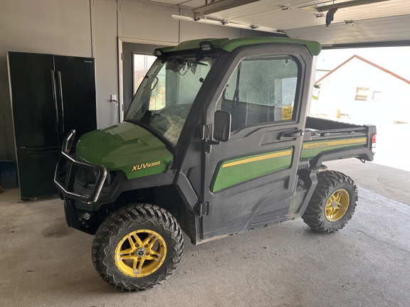
[{"label": "upper right door of the black refrigerator", "polygon": [[55,60],[60,133],[75,129],[79,138],[97,129],[94,59],[56,55]]}]

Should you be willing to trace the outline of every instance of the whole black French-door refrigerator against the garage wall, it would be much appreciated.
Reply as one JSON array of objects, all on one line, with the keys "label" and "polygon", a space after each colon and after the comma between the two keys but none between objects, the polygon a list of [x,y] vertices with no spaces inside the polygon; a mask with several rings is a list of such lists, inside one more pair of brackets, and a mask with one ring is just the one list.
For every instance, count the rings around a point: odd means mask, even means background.
[{"label": "whole black French-door refrigerator against the garage wall", "polygon": [[21,199],[56,195],[65,135],[97,128],[94,59],[9,52],[7,60]]}]

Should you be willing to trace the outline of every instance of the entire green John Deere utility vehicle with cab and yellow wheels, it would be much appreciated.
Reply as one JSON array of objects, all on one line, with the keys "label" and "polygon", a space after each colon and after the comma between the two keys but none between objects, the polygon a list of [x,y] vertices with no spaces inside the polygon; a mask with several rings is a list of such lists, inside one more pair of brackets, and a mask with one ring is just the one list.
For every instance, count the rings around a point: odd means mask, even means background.
[{"label": "entire green John Deere utility vehicle with cab and yellow wheels", "polygon": [[125,121],[64,141],[55,183],[70,227],[95,235],[108,284],[151,288],[199,244],[303,220],[335,232],[357,187],[324,161],[372,161],[375,126],[307,117],[319,43],[187,41],[155,50]]}]

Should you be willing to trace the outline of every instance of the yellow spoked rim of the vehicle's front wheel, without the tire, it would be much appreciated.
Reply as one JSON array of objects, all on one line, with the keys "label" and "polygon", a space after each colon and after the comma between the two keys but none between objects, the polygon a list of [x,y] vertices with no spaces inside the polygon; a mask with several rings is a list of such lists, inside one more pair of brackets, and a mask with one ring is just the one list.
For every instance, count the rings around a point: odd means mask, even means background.
[{"label": "yellow spoked rim of the vehicle's front wheel, without the tire", "polygon": [[162,235],[152,230],[135,230],[115,247],[115,266],[130,277],[144,277],[157,271],[167,257]]}]

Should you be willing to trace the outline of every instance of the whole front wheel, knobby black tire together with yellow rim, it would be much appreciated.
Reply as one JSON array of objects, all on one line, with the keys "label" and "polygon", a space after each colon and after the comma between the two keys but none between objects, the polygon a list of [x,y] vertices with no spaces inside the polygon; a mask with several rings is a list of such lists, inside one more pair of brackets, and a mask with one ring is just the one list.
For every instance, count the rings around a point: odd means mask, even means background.
[{"label": "whole front wheel, knobby black tire together with yellow rim", "polygon": [[107,217],[93,242],[101,278],[122,291],[153,288],[169,278],[182,258],[177,220],[155,205],[129,205]]}]

